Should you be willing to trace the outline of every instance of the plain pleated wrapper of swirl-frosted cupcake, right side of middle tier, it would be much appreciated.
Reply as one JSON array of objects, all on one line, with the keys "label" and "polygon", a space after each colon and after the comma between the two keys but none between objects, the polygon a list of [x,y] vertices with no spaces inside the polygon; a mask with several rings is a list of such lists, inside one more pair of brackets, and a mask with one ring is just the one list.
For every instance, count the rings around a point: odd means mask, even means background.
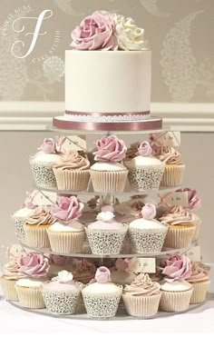
[{"label": "plain pleated wrapper of swirl-frosted cupcake, right side of middle tier", "polygon": [[186,248],[189,247],[192,241],[192,237],[195,233],[195,224],[191,227],[182,228],[174,225],[169,225],[167,236],[164,242],[166,248]]}]

